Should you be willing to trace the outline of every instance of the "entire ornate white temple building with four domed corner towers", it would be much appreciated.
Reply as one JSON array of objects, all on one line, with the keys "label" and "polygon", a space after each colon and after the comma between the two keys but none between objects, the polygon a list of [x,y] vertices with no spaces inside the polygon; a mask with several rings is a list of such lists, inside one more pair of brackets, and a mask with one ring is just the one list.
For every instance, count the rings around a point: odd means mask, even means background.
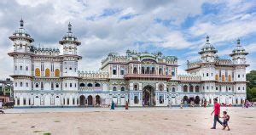
[{"label": "entire ornate white temple building with four domed corner towers", "polygon": [[[15,107],[30,106],[168,106],[170,104],[241,104],[246,99],[246,55],[237,40],[231,59],[218,57],[209,37],[199,54],[187,62],[187,75],[178,75],[177,57],[127,50],[108,53],[98,71],[79,70],[78,38],[72,25],[60,48],[36,48],[20,20],[9,37],[14,58]],[[61,51],[60,51],[61,50]],[[86,66],[86,65],[84,65]]]}]

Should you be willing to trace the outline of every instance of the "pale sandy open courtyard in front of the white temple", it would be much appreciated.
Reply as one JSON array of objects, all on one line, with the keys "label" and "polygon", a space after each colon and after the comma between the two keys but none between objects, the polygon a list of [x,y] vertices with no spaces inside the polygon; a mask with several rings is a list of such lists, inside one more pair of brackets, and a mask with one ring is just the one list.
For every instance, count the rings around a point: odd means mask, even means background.
[{"label": "pale sandy open courtyard in front of the white temple", "polygon": [[212,130],[208,108],[36,108],[0,114],[0,134],[255,134],[256,108],[222,107],[230,131]]}]

